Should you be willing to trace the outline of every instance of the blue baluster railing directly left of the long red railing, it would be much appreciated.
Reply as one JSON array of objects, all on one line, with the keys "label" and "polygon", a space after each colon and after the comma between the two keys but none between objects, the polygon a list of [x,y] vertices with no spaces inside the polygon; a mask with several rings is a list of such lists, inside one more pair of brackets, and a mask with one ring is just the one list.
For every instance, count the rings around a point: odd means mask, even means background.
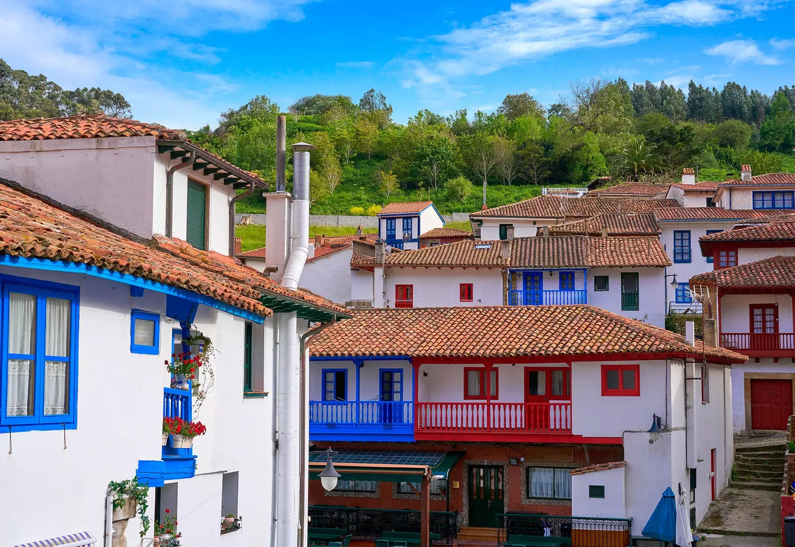
[{"label": "blue baluster railing directly left of the long red railing", "polygon": [[321,425],[411,425],[410,401],[310,401],[309,423]]}]

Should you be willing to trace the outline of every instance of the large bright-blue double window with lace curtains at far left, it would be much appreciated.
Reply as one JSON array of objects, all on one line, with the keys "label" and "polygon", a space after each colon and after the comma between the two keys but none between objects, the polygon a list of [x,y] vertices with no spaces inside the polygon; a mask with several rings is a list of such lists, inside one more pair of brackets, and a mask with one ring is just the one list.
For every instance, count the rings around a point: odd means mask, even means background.
[{"label": "large bright-blue double window with lace curtains at far left", "polygon": [[2,278],[0,425],[76,428],[79,300],[77,287]]}]

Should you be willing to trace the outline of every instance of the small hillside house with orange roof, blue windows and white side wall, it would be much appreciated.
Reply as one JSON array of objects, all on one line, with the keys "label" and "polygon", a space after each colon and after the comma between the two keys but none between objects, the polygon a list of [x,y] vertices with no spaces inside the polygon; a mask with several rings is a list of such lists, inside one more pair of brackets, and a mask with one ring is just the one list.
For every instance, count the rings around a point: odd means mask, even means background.
[{"label": "small hillside house with orange roof, blue windows and white side wall", "polygon": [[420,235],[444,227],[444,218],[432,201],[387,204],[378,212],[378,238],[396,249],[419,249]]}]

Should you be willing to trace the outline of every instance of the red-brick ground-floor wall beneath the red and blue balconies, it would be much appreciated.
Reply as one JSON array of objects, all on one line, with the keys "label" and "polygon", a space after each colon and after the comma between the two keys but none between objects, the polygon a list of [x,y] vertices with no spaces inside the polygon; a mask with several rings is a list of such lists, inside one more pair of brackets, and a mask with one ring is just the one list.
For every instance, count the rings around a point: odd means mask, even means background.
[{"label": "red-brick ground-floor wall beneath the red and blue balconies", "polygon": [[[486,443],[452,443],[441,444],[432,442],[417,442],[412,444],[394,443],[326,443],[316,442],[316,450],[324,450],[329,444],[335,450],[450,450],[465,452],[463,458],[450,471],[450,510],[460,513],[459,523],[467,526],[468,523],[468,484],[466,471],[471,465],[497,465],[502,466],[504,472],[503,497],[505,510],[510,512],[542,512],[548,514],[572,514],[571,502],[555,500],[528,499],[526,496],[525,473],[526,467],[532,464],[560,465],[560,467],[583,467],[586,465],[586,456],[580,444],[486,444]],[[620,445],[589,445],[588,456],[590,464],[606,464],[612,461],[623,460],[623,447]],[[518,465],[510,465],[509,458],[519,461]],[[457,483],[457,487],[456,487]],[[326,493],[320,485],[320,480],[309,481],[310,505],[341,505],[350,507],[365,507],[368,509],[404,509],[420,510],[419,496],[396,494],[392,483],[378,483],[378,497],[374,495],[355,495],[355,493]],[[444,496],[433,495],[431,499],[432,511],[447,510],[447,501]]]}]

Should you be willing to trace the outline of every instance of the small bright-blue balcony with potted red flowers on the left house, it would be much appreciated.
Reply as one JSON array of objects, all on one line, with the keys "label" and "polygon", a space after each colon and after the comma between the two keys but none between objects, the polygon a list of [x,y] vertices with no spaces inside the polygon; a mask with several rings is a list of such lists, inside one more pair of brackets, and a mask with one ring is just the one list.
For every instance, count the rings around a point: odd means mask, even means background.
[{"label": "small bright-blue balcony with potted red flowers on the left house", "polygon": [[[163,388],[163,417],[192,420],[190,390]],[[166,480],[190,479],[196,475],[193,448],[172,448],[171,436],[161,449],[160,460],[138,460],[138,480],[150,487],[161,487]]]}]

